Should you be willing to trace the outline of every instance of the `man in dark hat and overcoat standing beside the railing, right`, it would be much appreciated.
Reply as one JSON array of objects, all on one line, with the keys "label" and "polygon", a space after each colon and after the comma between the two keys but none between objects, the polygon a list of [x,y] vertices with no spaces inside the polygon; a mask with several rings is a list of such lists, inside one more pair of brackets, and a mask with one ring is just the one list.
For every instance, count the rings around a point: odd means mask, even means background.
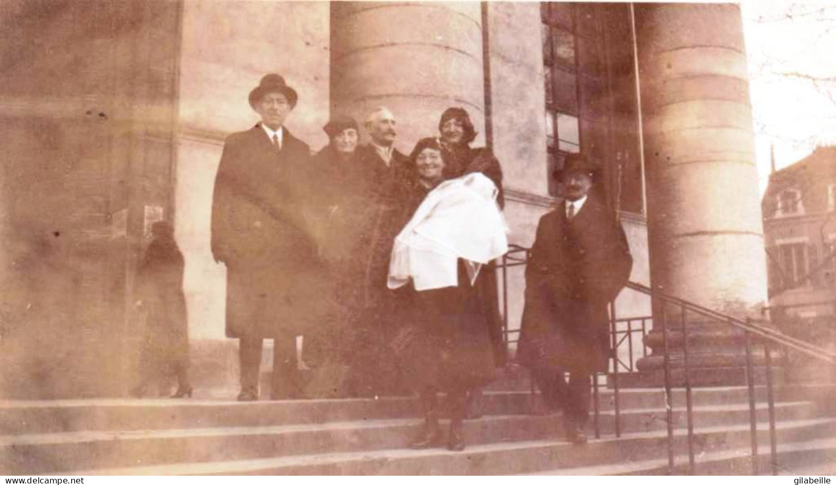
[{"label": "man in dark hat and overcoat standing beside the railing, right", "polygon": [[567,156],[563,170],[554,173],[563,184],[563,202],[538,223],[517,350],[547,406],[563,407],[566,437],[578,444],[587,441],[589,378],[608,369],[607,305],[633,266],[624,230],[591,191],[598,173],[579,154]]}]

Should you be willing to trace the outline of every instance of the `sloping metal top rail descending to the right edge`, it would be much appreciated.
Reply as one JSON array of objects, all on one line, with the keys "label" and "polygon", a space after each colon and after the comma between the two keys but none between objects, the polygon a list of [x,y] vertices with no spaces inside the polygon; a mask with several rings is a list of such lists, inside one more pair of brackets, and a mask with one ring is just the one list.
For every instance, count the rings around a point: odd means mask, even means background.
[{"label": "sloping metal top rail descending to the right edge", "polygon": [[836,364],[836,353],[823,349],[822,347],[818,347],[817,345],[810,344],[809,342],[805,342],[802,339],[796,339],[794,337],[790,337],[789,335],[782,334],[776,329],[770,329],[763,325],[753,324],[751,320],[740,319],[733,317],[732,315],[722,314],[721,312],[708,309],[686,299],[677,298],[675,296],[671,296],[670,294],[665,294],[660,290],[649,288],[641,283],[634,283],[631,281],[627,283],[626,288],[633,289],[652,297],[657,297],[663,301],[680,305],[681,307],[691,310],[696,314],[701,314],[703,316],[730,324],[738,329],[743,329],[752,334],[757,334],[764,339],[770,340],[779,345],[787,346],[790,349],[797,350],[798,352],[802,352],[803,354],[809,355],[815,359],[824,360],[830,364]]}]

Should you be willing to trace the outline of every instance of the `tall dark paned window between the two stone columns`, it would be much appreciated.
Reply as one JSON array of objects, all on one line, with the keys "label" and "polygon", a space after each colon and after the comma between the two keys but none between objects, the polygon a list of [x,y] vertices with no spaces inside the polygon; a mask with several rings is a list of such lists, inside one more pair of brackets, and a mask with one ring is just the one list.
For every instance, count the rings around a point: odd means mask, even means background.
[{"label": "tall dark paned window between the two stone columns", "polygon": [[[643,212],[638,98],[630,8],[540,3],[548,172],[583,151],[604,164],[598,187],[620,210]],[[549,177],[549,193],[559,189]]]}]

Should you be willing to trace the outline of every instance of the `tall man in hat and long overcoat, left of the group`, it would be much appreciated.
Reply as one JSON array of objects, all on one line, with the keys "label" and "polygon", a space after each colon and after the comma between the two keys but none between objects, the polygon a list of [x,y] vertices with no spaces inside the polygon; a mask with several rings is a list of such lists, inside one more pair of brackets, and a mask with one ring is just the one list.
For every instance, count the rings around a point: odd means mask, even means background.
[{"label": "tall man in hat and long overcoat, left of the group", "polygon": [[212,254],[227,265],[227,336],[240,339],[239,401],[258,399],[263,339],[273,339],[273,399],[297,397],[296,336],[316,319],[308,145],[284,126],[298,100],[278,74],[249,95],[261,122],[223,146],[212,199]]}]

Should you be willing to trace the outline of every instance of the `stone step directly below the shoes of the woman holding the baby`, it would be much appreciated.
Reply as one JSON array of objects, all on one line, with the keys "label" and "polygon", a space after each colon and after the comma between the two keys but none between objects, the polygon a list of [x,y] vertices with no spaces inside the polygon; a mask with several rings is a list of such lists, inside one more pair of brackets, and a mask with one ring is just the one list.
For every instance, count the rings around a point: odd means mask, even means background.
[{"label": "stone step directly below the shoes of the woman holding the baby", "polygon": [[[766,423],[760,423],[764,428]],[[832,439],[836,420],[782,422],[777,435],[783,447],[801,446],[812,439]],[[759,433],[767,443],[767,431]],[[696,452],[726,451],[743,457],[749,442],[748,426],[719,426],[700,430]],[[789,443],[789,445],[787,444]],[[799,445],[800,444],[800,445]],[[676,452],[686,452],[685,432],[676,432]],[[79,475],[479,475],[570,470],[666,457],[665,433],[630,433],[576,446],[554,439],[493,442],[471,445],[465,452],[444,449],[412,451],[403,448],[365,452],[273,457],[216,462],[180,462],[161,466],[103,468],[69,472]],[[687,462],[687,461],[686,461]],[[666,462],[665,462],[666,463]],[[658,463],[657,463],[658,465]],[[603,471],[599,468],[599,472]]]}]

